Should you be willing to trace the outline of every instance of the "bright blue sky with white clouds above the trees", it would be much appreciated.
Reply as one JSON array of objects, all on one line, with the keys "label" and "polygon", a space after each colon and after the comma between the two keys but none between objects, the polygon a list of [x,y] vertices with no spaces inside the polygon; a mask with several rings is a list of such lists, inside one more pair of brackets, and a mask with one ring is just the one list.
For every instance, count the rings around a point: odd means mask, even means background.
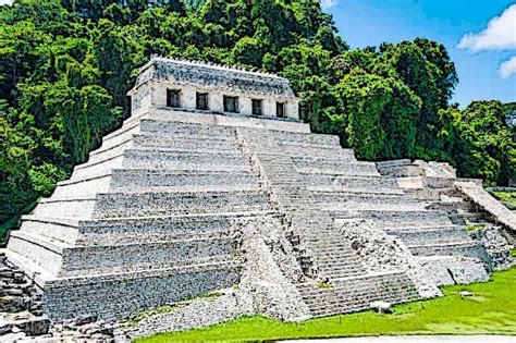
[{"label": "bright blue sky with white clouds above the trees", "polygon": [[[322,4],[352,48],[416,37],[444,44],[459,77],[452,101],[460,107],[471,100],[516,101],[516,1],[322,0]],[[515,7],[505,11],[511,4]],[[458,47],[467,34],[471,36]]]}]

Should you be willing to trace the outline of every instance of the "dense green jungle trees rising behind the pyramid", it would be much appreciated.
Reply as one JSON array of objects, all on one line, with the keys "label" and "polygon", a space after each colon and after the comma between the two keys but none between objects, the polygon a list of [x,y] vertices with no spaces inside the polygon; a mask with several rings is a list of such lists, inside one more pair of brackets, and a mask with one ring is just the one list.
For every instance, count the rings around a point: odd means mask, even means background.
[{"label": "dense green jungle trees rising behind the pyramid", "polygon": [[349,50],[317,0],[124,2],[0,7],[0,236],[120,126],[151,54],[288,77],[302,118],[359,158],[444,159],[491,184],[514,175],[501,105],[449,108],[457,75],[440,44]]}]

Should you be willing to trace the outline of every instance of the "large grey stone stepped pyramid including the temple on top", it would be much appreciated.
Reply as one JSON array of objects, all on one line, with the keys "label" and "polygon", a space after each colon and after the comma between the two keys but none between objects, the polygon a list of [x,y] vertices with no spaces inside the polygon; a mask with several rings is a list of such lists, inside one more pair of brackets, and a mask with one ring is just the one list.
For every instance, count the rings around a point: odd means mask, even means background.
[{"label": "large grey stone stepped pyramid including the temple on top", "polygon": [[464,193],[310,133],[285,78],[153,58],[128,95],[131,118],[3,250],[53,322],[176,304],[125,331],[302,320],[440,296],[494,268],[466,230]]}]

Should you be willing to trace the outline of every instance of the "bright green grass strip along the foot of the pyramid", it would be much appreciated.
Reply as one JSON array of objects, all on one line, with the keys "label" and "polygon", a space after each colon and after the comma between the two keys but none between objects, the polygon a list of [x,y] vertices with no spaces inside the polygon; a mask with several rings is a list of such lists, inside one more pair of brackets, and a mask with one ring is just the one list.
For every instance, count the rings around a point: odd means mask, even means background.
[{"label": "bright green grass strip along the foot of the pyramid", "polygon": [[[487,283],[443,287],[444,297],[403,304],[392,315],[365,311],[285,323],[241,318],[205,329],[162,333],[137,342],[253,341],[379,334],[516,334],[516,268]],[[462,298],[459,291],[474,293]]]}]

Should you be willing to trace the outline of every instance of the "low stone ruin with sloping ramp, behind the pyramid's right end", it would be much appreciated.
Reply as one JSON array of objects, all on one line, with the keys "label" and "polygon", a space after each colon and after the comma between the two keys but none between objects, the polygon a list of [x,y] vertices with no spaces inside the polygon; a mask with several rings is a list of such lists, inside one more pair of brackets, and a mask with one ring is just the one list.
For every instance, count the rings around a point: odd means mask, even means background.
[{"label": "low stone ruin with sloping ramp, behind the pyramid's right end", "polygon": [[[440,200],[450,217],[481,242],[494,270],[512,266],[516,216],[482,187],[481,180],[459,179],[449,163],[394,160],[377,163],[384,176],[396,177],[405,192],[421,199]],[[453,280],[451,280],[453,281]]]}]

